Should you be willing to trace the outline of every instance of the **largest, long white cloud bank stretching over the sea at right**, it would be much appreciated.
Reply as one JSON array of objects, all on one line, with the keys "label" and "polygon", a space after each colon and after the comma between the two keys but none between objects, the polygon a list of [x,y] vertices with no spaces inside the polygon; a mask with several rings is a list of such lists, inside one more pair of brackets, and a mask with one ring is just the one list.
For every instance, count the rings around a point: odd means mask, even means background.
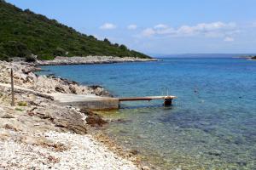
[{"label": "largest, long white cloud bank stretching over the sea at right", "polygon": [[205,37],[225,37],[226,35],[236,34],[236,23],[212,22],[200,23],[195,26],[180,26],[173,28],[159,24],[152,28],[147,28],[142,31],[145,37],[150,36],[166,36],[166,37],[192,37],[192,36],[205,36]]}]

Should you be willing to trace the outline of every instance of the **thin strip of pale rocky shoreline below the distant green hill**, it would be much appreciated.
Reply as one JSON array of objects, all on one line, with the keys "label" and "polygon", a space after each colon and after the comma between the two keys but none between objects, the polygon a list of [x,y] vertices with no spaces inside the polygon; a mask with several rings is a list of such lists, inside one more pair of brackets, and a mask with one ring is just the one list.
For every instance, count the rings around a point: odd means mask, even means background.
[{"label": "thin strip of pale rocky shoreline below the distant green hill", "polygon": [[158,59],[141,59],[133,57],[87,56],[87,57],[56,57],[53,60],[37,60],[36,65],[91,65],[122,62],[157,61]]}]

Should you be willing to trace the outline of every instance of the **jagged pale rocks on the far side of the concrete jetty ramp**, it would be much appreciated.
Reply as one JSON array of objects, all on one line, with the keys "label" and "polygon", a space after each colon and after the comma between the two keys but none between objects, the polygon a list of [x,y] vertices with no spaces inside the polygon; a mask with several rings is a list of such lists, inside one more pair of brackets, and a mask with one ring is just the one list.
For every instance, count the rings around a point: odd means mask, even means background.
[{"label": "jagged pale rocks on the far side of the concrete jetty ramp", "polygon": [[10,68],[14,71],[16,86],[30,88],[41,93],[64,93],[64,94],[96,94],[110,96],[108,91],[100,86],[81,86],[77,82],[69,81],[55,76],[37,76],[33,71],[40,70],[35,65],[26,63],[12,63],[0,61],[0,83],[10,83]]}]

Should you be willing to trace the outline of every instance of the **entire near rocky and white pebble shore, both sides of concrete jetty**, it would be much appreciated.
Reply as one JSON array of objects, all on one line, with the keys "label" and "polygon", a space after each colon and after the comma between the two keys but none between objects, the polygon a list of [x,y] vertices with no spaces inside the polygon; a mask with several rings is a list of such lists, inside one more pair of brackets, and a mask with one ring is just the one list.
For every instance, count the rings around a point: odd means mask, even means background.
[{"label": "entire near rocky and white pebble shore, both sides of concrete jetty", "polygon": [[[0,61],[0,83],[10,82],[10,68],[15,85],[22,88],[45,94],[110,95],[98,86],[37,76],[37,67],[25,63]],[[0,169],[139,169],[136,156],[107,147],[102,143],[106,138],[88,133],[108,123],[101,116],[24,91],[15,93],[15,106],[10,103],[10,89],[0,85]]]}]

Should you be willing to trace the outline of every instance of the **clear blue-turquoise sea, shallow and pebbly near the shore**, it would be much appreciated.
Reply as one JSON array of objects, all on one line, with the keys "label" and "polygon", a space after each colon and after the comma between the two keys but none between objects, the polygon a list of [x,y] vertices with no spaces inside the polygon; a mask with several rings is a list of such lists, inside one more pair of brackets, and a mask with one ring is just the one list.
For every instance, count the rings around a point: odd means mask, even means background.
[{"label": "clear blue-turquoise sea, shallow and pebbly near the shore", "polygon": [[[162,169],[256,169],[256,61],[163,59],[112,65],[44,66],[74,81],[107,88],[115,96],[177,95],[124,103],[106,112],[106,133],[139,150]],[[167,92],[168,91],[168,92]]]}]

